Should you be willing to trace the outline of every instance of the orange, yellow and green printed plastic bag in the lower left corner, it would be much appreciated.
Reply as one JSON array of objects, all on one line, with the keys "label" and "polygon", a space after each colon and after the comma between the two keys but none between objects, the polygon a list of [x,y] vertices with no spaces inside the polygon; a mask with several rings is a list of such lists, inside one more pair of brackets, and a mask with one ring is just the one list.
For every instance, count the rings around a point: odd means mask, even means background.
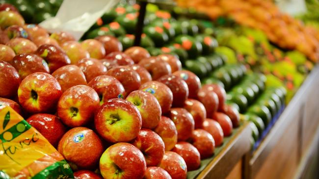
[{"label": "orange, yellow and green printed plastic bag in the lower left corner", "polygon": [[0,106],[0,179],[73,179],[49,141],[10,107]]}]

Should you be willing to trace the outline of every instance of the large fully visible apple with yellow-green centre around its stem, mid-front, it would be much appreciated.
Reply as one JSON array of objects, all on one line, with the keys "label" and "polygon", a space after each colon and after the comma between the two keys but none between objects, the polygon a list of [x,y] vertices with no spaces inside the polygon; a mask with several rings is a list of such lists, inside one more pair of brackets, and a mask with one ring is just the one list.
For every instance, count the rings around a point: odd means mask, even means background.
[{"label": "large fully visible apple with yellow-green centre around its stem, mid-front", "polygon": [[96,112],[94,125],[105,140],[128,142],[133,140],[142,127],[142,117],[138,109],[124,99],[110,99]]}]

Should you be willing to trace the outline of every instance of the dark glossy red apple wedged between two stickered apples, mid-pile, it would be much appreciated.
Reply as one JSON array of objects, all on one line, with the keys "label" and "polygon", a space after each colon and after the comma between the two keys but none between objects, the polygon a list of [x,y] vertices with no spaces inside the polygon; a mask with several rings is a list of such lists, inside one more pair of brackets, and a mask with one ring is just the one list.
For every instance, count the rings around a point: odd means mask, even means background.
[{"label": "dark glossy red apple wedged between two stickered apples, mid-pile", "polygon": [[[188,97],[188,87],[186,82],[178,76],[165,75],[160,77],[157,81],[165,84],[171,89],[173,93],[173,106],[183,107]],[[204,104],[205,105],[205,104]]]}]

